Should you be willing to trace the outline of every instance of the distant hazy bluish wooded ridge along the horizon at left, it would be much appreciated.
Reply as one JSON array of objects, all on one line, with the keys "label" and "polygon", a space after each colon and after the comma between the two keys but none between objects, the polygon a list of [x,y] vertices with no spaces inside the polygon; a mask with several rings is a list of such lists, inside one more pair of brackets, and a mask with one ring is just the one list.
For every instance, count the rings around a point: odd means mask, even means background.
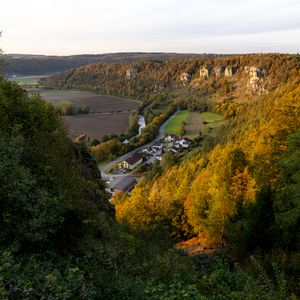
[{"label": "distant hazy bluish wooded ridge along the horizon at left", "polygon": [[181,54],[181,53],[106,53],[83,54],[71,56],[46,56],[28,54],[5,54],[4,73],[6,75],[41,75],[65,71],[70,68],[83,66],[94,62],[131,63],[136,60],[166,61],[179,58],[200,58],[215,56],[214,54]]}]

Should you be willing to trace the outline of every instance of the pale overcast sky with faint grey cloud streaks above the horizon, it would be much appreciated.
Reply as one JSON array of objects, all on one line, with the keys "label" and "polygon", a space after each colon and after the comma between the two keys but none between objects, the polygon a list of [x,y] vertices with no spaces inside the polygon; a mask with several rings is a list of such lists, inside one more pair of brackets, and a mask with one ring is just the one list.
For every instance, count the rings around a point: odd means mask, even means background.
[{"label": "pale overcast sky with faint grey cloud streaks above the horizon", "polygon": [[300,0],[1,0],[0,49],[300,52]]}]

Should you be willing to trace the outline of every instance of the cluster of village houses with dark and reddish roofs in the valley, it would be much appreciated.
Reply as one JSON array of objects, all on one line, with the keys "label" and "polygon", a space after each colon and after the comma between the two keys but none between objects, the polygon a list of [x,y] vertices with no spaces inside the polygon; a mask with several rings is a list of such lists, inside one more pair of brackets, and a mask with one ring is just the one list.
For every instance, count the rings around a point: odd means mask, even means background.
[{"label": "cluster of village houses with dark and reddish roofs in the valley", "polygon": [[182,158],[187,154],[190,145],[191,140],[187,137],[166,134],[151,146],[129,154],[110,170],[111,176],[106,181],[107,192],[111,195],[116,192],[130,193],[141,178],[136,174],[139,166],[151,166],[154,162],[161,161],[167,152]]}]

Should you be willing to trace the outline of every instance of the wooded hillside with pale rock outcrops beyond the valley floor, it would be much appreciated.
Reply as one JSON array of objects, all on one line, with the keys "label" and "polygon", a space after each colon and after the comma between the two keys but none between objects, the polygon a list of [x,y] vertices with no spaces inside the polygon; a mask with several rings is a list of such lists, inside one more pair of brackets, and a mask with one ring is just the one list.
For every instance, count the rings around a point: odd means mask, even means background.
[{"label": "wooded hillside with pale rock outcrops beyond the valley floor", "polygon": [[[287,82],[299,68],[296,55],[255,54],[130,64],[95,63],[42,80],[44,85],[153,100],[182,90],[190,99],[251,97]],[[182,96],[184,97],[184,96]],[[184,101],[183,99],[179,100]],[[189,99],[187,99],[189,100]]]}]

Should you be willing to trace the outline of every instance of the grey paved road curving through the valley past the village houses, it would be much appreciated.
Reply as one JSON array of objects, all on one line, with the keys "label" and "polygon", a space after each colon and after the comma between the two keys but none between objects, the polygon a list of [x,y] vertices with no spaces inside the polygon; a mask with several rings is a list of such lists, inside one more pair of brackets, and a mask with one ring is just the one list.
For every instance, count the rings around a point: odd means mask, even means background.
[{"label": "grey paved road curving through the valley past the village houses", "polygon": [[130,152],[128,152],[128,153],[122,155],[122,156],[119,156],[119,157],[116,158],[115,160],[113,160],[113,161],[111,161],[111,162],[109,162],[109,163],[107,163],[107,164],[101,166],[101,167],[99,168],[99,170],[100,170],[100,172],[101,172],[102,179],[105,180],[105,179],[110,178],[111,176],[117,178],[117,177],[125,177],[125,176],[130,175],[129,173],[127,173],[127,174],[111,174],[111,173],[104,173],[104,171],[105,171],[106,169],[112,167],[113,165],[115,165],[115,164],[117,164],[117,163],[123,161],[128,155],[130,155],[130,154],[132,154],[132,153],[134,153],[134,152],[136,152],[136,151],[145,149],[145,148],[147,148],[147,147],[151,147],[155,142],[157,142],[158,140],[162,139],[162,138],[165,136],[165,128],[166,128],[166,126],[167,126],[168,123],[169,123],[169,122],[170,122],[170,121],[171,121],[171,120],[179,113],[179,111],[180,111],[180,110],[177,110],[177,111],[176,111],[176,112],[175,112],[168,120],[166,120],[166,121],[160,126],[158,136],[157,136],[154,140],[152,140],[150,143],[145,144],[145,145],[142,145],[142,146],[140,146],[140,147],[138,147],[138,148],[136,148],[136,149],[134,149],[134,150],[132,150],[132,151],[130,151]]}]

